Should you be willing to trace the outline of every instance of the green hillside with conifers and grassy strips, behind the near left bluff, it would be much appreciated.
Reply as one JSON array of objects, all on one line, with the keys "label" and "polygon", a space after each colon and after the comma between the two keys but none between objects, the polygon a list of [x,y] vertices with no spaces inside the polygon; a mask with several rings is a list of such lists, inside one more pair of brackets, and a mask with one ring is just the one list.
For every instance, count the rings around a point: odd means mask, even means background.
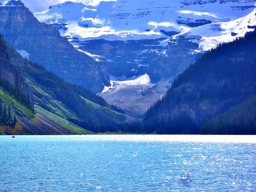
[{"label": "green hillside with conifers and grassy strips, behind the near left bluff", "polygon": [[[33,92],[36,112],[74,134],[122,131],[122,122],[126,122],[126,116],[118,108],[108,105],[102,97],[65,82],[42,66],[22,58],[8,43],[6,46],[12,67],[22,75]],[[25,109],[18,111],[20,114],[27,113]]]}]

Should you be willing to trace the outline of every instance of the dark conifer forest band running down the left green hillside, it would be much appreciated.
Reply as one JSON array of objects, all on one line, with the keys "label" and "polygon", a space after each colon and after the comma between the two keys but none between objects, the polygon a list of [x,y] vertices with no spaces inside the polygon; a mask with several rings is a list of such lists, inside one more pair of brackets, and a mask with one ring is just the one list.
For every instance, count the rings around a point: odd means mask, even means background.
[{"label": "dark conifer forest band running down the left green hillside", "polygon": [[[19,54],[8,46],[8,52],[17,71],[23,76],[31,79],[44,92],[51,96],[51,99],[62,102],[78,118],[68,118],[67,120],[87,130],[94,132],[117,132],[122,130],[122,122],[126,120],[122,110],[116,106],[109,105],[101,96],[89,90],[62,80],[56,74],[49,72],[27,59],[20,58]],[[51,111],[48,107],[48,98],[35,90],[34,95],[41,101],[38,105]],[[87,100],[84,100],[84,98]],[[88,103],[89,101],[89,103]],[[95,106],[95,104],[101,107]]]}]

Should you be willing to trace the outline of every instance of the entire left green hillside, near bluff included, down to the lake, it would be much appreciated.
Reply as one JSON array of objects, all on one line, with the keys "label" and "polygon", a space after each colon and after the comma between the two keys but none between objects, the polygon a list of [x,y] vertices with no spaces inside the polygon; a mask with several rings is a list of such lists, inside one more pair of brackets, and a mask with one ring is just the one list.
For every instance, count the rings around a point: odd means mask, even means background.
[{"label": "entire left green hillside, near bluff included, down to the lake", "polygon": [[[0,37],[1,74],[8,74],[2,75],[8,82],[0,81],[0,98],[4,104],[11,106],[12,116],[16,114],[19,120],[14,128],[1,128],[2,134],[87,134],[90,133],[88,130],[119,131],[123,128],[122,124],[134,120],[121,114],[122,111],[118,108],[108,105],[100,96],[65,82],[42,66],[22,58],[12,46],[6,47],[2,36]],[[12,77],[14,80],[10,82]],[[18,90],[22,90],[23,94],[13,94],[12,89],[6,89],[6,84],[11,88],[21,87]],[[31,104],[23,100],[28,100]],[[31,108],[31,105],[34,107]],[[127,129],[126,124],[125,128]]]}]

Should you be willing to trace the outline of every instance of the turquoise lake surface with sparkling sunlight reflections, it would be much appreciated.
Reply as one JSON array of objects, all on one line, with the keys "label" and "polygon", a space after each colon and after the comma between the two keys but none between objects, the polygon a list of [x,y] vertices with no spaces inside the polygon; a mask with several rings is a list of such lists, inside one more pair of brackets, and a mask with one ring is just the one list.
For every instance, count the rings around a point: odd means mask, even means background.
[{"label": "turquoise lake surface with sparkling sunlight reflections", "polygon": [[256,136],[0,136],[0,191],[256,191]]}]

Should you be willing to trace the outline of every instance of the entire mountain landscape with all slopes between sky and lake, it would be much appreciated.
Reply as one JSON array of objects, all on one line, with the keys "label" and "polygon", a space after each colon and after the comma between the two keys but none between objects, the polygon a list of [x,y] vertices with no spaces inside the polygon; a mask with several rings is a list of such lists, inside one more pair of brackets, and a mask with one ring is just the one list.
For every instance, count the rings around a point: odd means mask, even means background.
[{"label": "entire mountain landscape with all slopes between sky and lake", "polygon": [[256,134],[256,0],[0,2],[0,134]]}]

